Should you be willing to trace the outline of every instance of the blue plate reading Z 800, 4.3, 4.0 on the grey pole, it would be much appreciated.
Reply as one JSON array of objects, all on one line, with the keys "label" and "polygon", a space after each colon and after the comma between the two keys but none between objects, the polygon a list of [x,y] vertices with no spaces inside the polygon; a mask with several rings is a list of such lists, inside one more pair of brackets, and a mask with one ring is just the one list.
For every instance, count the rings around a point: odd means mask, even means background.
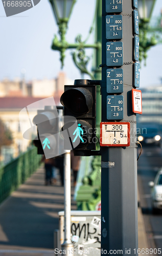
[{"label": "blue plate reading Z 800, 4.3, 4.0 on the grey pole", "polygon": [[106,43],[106,65],[109,67],[123,65],[123,42]]}]

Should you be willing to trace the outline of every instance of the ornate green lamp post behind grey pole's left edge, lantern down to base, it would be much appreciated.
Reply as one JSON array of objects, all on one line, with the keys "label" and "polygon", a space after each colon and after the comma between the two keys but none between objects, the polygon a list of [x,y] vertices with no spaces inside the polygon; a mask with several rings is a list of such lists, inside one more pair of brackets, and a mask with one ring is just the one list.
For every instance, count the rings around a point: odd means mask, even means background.
[{"label": "ornate green lamp post behind grey pole's left edge, lantern down to base", "polygon": [[[82,41],[81,36],[78,35],[76,37],[76,43],[75,44],[69,44],[65,39],[65,33],[67,29],[67,23],[70,18],[70,15],[72,13],[73,6],[76,2],[76,0],[49,0],[54,15],[56,18],[56,22],[59,26],[59,34],[60,34],[60,40],[57,38],[57,36],[54,36],[53,43],[52,43],[52,49],[60,51],[60,60],[62,63],[62,67],[64,64],[64,58],[65,58],[65,51],[66,49],[76,49],[75,52],[72,53],[73,60],[75,62],[75,65],[77,68],[81,71],[81,73],[88,74],[92,80],[101,80],[101,69],[99,69],[99,66],[101,65],[101,41],[102,41],[102,0],[96,0],[96,10],[94,15],[94,20],[92,22],[92,26],[90,27],[89,34],[86,38],[86,40]],[[67,8],[67,9],[66,9]],[[94,25],[96,22],[96,30],[95,30],[95,43],[94,44],[87,44],[87,41],[89,39],[89,35],[91,34]],[[93,48],[94,49],[94,55],[95,55],[95,61],[93,63],[93,71],[89,72],[87,70],[87,63],[89,61],[89,57],[85,54],[85,48]],[[98,131],[98,138],[99,138],[99,131],[100,131],[100,122],[101,122],[101,95],[100,95],[100,86],[97,86],[97,121],[96,121],[96,127]],[[97,149],[99,150],[99,144],[97,145]],[[87,159],[87,158],[86,158]],[[86,160],[86,163],[88,164],[88,159]],[[88,176],[88,180],[90,180],[90,189],[92,190],[91,195],[94,195],[95,190],[99,189],[100,193],[100,186],[101,186],[101,157],[95,156],[94,159],[91,162],[92,165],[92,173]],[[86,179],[86,178],[85,178]],[[84,186],[84,185],[83,185]],[[93,187],[93,188],[92,188]],[[95,190],[94,190],[95,189]],[[85,190],[85,188],[83,188]],[[90,193],[90,190],[89,190]],[[80,193],[82,194],[82,193]],[[82,196],[81,196],[82,198]],[[100,200],[100,199],[99,199]],[[81,200],[82,202],[84,200]],[[91,209],[95,209],[96,201],[92,203],[92,199],[90,200],[92,207]],[[83,202],[84,204],[84,202]],[[81,203],[81,205],[83,205]],[[81,209],[84,207],[81,206]],[[84,210],[87,210],[88,208],[84,208]]]}]

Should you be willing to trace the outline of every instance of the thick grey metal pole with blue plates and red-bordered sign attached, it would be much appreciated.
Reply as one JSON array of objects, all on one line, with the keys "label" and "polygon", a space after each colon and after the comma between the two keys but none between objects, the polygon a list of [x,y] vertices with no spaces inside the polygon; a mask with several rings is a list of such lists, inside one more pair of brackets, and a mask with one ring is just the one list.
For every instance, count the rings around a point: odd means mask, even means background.
[{"label": "thick grey metal pole with blue plates and red-bordered sign attached", "polygon": [[137,0],[102,1],[102,254],[137,255],[136,8]]}]

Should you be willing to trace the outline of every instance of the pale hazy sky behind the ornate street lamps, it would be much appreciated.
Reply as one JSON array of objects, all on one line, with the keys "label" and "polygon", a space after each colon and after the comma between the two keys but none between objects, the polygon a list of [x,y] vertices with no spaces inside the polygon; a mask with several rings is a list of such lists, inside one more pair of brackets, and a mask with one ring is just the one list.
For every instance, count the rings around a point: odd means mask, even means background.
[{"label": "pale hazy sky behind the ornate street lamps", "polygon": [[[88,34],[95,12],[95,0],[77,0],[68,23],[66,40],[75,42],[78,34],[84,40]],[[162,9],[162,1],[156,0],[152,16],[158,16]],[[8,77],[20,77],[22,69],[26,70],[26,79],[56,78],[61,71],[60,53],[51,50],[54,35],[58,34],[58,26],[48,0],[41,0],[34,8],[20,14],[6,17],[3,3],[0,2],[0,80]],[[89,43],[94,41],[93,36]],[[67,77],[80,79],[80,71],[76,68],[71,52],[66,50],[64,71]],[[92,50],[87,55],[92,56]],[[162,44],[148,51],[147,66],[141,65],[140,87],[160,83]],[[90,70],[90,64],[89,64]],[[85,75],[84,78],[89,78]]]}]

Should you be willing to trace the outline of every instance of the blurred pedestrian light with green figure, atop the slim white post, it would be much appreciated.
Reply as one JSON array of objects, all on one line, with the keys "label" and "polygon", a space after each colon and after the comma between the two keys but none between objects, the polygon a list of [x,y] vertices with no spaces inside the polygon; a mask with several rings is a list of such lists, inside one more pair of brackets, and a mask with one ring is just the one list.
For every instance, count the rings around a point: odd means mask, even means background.
[{"label": "blurred pedestrian light with green figure, atop the slim white post", "polygon": [[44,110],[37,110],[33,119],[37,125],[37,135],[33,144],[38,148],[38,154],[51,158],[59,155],[59,116],[53,106],[45,106]]}]

